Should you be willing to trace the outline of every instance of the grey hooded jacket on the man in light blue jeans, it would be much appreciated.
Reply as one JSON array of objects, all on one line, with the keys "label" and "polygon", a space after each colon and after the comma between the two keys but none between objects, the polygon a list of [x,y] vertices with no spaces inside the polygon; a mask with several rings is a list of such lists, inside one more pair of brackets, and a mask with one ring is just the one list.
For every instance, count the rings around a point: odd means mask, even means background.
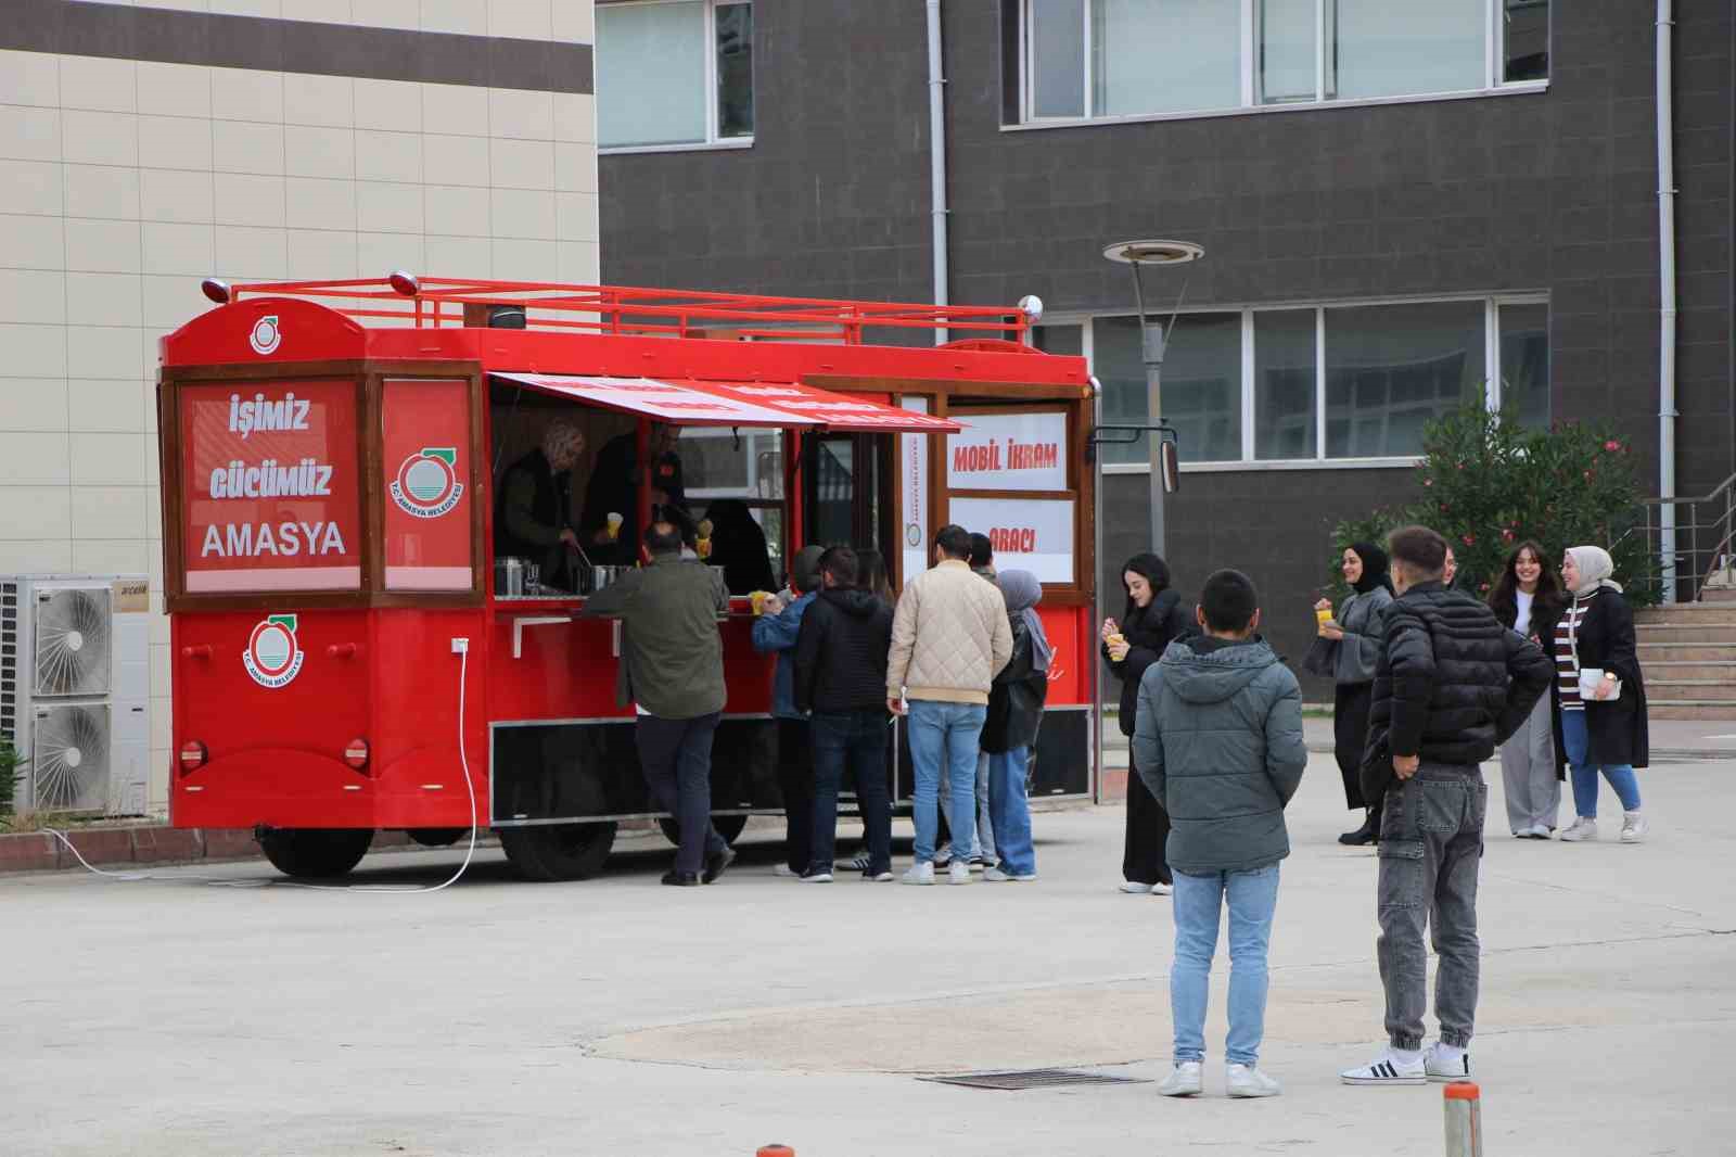
[{"label": "grey hooded jacket on the man in light blue jeans", "polygon": [[1290,855],[1302,688],[1266,639],[1170,643],[1139,681],[1134,768],[1170,815],[1177,872],[1252,872]]}]

